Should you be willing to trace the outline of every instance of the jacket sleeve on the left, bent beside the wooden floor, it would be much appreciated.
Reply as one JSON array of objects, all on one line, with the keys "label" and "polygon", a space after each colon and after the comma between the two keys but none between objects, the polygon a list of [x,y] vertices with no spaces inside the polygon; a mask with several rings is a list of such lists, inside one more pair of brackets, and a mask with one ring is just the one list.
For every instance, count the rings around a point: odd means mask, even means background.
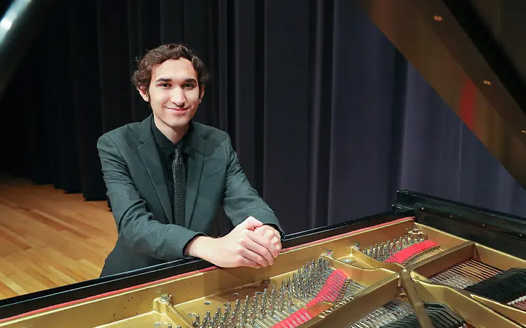
[{"label": "jacket sleeve on the left, bent beside the wooden floor", "polygon": [[135,189],[115,142],[104,134],[98,139],[97,149],[119,239],[134,252],[152,258],[166,261],[190,258],[183,253],[185,246],[192,238],[203,234],[155,220]]}]

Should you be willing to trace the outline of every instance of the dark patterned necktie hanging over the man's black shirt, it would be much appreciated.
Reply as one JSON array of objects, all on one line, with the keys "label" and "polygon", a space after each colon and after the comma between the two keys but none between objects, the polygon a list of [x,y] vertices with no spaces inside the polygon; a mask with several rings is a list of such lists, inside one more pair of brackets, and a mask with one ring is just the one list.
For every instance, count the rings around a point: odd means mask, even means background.
[{"label": "dark patterned necktie hanging over the man's black shirt", "polygon": [[173,219],[178,226],[185,226],[186,179],[181,149],[175,148],[172,159]]}]

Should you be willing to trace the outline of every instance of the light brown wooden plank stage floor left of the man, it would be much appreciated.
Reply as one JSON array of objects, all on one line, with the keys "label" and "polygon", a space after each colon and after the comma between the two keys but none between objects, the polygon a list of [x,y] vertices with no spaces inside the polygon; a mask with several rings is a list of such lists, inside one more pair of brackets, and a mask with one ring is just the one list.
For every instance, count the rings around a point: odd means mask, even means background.
[{"label": "light brown wooden plank stage floor left of the man", "polygon": [[98,277],[115,240],[105,201],[0,176],[0,300]]}]

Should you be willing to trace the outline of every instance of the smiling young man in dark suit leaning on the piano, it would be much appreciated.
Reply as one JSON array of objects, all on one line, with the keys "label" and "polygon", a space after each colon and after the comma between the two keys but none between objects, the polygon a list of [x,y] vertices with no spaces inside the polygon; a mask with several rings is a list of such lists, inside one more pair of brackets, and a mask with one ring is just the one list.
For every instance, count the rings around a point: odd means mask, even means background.
[{"label": "smiling young man in dark suit leaning on the piano", "polygon": [[[261,268],[279,255],[282,228],[250,186],[229,135],[192,121],[207,78],[200,58],[180,44],[140,60],[133,83],[153,113],[97,143],[118,230],[101,276],[190,257]],[[212,238],[218,206],[235,228]]]}]

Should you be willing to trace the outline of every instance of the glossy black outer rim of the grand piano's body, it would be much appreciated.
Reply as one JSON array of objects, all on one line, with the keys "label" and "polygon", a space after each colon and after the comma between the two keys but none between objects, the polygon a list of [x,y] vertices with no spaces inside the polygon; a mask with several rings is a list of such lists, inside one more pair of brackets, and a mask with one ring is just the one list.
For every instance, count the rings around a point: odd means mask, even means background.
[{"label": "glossy black outer rim of the grand piano's body", "polygon": [[[522,236],[526,236],[526,234],[520,236],[520,231],[526,231],[526,218],[490,211],[448,199],[440,199],[414,191],[398,190],[396,203],[393,203],[392,207],[393,211],[292,233],[282,241],[283,248],[287,250],[298,245],[313,243],[324,238],[341,235],[342,233],[357,231],[361,228],[389,223],[408,216],[414,216],[417,222],[423,216],[435,216],[440,218],[440,220],[460,222],[465,224],[467,229],[470,227],[483,228],[490,235],[493,234],[497,238],[519,238],[522,241],[525,239]],[[433,226],[432,222],[425,224]],[[447,228],[440,228],[440,230],[465,238],[465,236],[462,236],[464,234],[463,231],[460,231],[460,233],[456,231],[455,233],[448,231]],[[478,238],[466,239],[480,243]],[[500,250],[495,245],[488,245],[488,247]],[[14,317],[25,317],[29,315],[29,312],[48,310],[49,307],[62,306],[64,303],[82,302],[87,298],[103,297],[103,295],[108,293],[120,292],[148,282],[155,282],[177,275],[187,275],[200,270],[212,270],[213,268],[216,268],[215,265],[205,260],[175,260],[170,263],[163,263],[118,275],[86,280],[71,285],[7,298],[0,300],[0,322],[4,322],[6,319],[14,319]]]}]

